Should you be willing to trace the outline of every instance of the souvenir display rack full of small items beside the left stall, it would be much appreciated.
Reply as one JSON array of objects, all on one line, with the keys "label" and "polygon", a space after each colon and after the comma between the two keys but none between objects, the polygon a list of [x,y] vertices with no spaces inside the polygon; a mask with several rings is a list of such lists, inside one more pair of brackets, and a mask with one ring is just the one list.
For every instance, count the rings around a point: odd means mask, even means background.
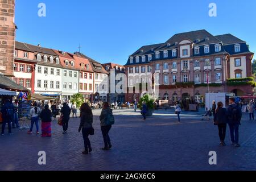
[{"label": "souvenir display rack full of small items beside the left stall", "polygon": [[18,107],[18,118],[21,129],[29,129],[28,121],[30,121],[30,110],[32,107],[31,94],[30,92],[20,92],[17,96],[19,100]]}]

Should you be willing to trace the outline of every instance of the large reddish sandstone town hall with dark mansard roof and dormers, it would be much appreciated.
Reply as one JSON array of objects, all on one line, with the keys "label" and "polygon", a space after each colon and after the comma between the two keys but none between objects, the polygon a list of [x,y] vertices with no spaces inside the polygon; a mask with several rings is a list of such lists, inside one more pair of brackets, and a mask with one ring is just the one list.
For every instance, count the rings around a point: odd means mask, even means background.
[{"label": "large reddish sandstone town hall with dark mansard roof and dormers", "polygon": [[[251,96],[251,85],[228,83],[230,78],[252,76],[253,55],[245,41],[231,34],[213,36],[205,30],[184,32],[165,43],[143,46],[134,52],[125,65],[128,86],[146,82],[142,75],[149,74],[159,86],[159,100],[171,103],[186,98],[203,102],[207,92]],[[139,96],[129,93],[126,100]]]}]

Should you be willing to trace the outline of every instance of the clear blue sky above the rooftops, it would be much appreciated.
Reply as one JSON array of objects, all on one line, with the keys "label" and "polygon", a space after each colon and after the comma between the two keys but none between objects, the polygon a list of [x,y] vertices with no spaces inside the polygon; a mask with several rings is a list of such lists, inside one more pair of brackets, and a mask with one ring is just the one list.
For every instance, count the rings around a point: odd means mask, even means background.
[{"label": "clear blue sky above the rooftops", "polygon": [[[42,2],[46,17],[38,16]],[[217,17],[208,15],[212,2]],[[72,53],[81,44],[82,53],[101,63],[125,64],[141,46],[205,29],[233,34],[256,52],[255,8],[251,0],[16,0],[16,40]]]}]

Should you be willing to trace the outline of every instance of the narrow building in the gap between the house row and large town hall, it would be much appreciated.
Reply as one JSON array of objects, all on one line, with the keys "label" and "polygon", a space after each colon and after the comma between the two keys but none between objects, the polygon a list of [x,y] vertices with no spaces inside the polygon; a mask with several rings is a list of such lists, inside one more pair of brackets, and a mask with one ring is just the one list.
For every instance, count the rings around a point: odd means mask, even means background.
[{"label": "narrow building in the gap between the house row and large town hall", "polygon": [[102,64],[102,66],[105,68],[105,70],[109,73],[109,94],[108,94],[108,98],[109,98],[109,102],[113,103],[115,101],[119,101],[119,102],[125,102],[125,93],[121,93],[121,89],[116,90],[115,92],[112,93],[113,90],[111,90],[111,87],[113,86],[113,88],[116,88],[117,84],[118,84],[118,80],[116,79],[117,75],[119,73],[121,74],[125,74],[125,67],[123,67],[122,65],[119,64],[114,64],[114,63],[105,63]]}]

